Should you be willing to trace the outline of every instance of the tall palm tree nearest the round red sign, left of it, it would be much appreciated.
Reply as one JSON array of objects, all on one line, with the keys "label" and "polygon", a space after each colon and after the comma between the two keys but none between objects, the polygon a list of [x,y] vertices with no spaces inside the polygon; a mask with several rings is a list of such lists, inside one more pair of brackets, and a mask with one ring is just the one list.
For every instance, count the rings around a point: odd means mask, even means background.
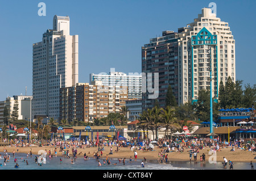
[{"label": "tall palm tree nearest the round red sign, left of it", "polygon": [[177,128],[176,117],[174,116],[175,110],[172,109],[170,106],[167,106],[165,109],[161,108],[161,110],[161,117],[163,119],[162,125],[166,128],[164,134],[165,136],[168,136],[169,129]]}]

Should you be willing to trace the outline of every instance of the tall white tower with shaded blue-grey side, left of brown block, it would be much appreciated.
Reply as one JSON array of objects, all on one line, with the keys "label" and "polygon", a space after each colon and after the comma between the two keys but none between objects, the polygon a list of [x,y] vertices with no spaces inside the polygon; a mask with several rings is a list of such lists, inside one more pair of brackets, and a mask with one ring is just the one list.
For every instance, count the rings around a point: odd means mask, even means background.
[{"label": "tall white tower with shaded blue-grey side, left of brown block", "polygon": [[53,29],[33,44],[33,117],[59,119],[60,88],[79,82],[79,36],[69,35],[69,22],[55,15]]}]

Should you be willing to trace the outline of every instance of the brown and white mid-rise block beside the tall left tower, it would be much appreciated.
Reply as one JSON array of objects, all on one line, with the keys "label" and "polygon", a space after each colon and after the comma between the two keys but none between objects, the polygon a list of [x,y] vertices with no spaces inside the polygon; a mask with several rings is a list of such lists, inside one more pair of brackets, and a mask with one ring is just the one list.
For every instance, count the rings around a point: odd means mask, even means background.
[{"label": "brown and white mid-rise block beside the tall left tower", "polygon": [[120,112],[127,86],[105,86],[101,81],[77,83],[60,89],[60,120],[88,122]]}]

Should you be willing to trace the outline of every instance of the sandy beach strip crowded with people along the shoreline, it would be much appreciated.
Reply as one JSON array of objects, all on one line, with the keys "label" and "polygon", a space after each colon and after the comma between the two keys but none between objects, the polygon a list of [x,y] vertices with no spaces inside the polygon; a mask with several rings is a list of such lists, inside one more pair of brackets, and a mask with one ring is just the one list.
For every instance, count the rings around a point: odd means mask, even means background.
[{"label": "sandy beach strip crowded with people along the shoreline", "polygon": [[[28,153],[30,149],[32,149],[32,154],[38,155],[40,153],[40,150],[47,150],[47,153],[49,150],[54,150],[54,146],[42,146],[39,147],[37,145],[34,146],[28,146],[28,147],[14,147],[14,146],[1,146],[0,147],[0,153],[3,154],[3,149],[6,148],[7,152],[10,155],[13,155],[13,151],[15,151],[15,154],[17,153]],[[84,157],[84,153],[88,155],[89,157],[93,157],[93,153],[98,151],[97,147],[90,147],[90,148],[76,148],[77,149],[77,157]],[[109,158],[126,158],[129,159],[132,157],[134,159],[134,151],[132,151],[130,148],[118,148],[118,153],[115,151],[117,148],[113,147],[113,154],[110,153],[110,146],[105,146],[105,150],[102,151],[102,157],[105,158],[106,154],[108,154]],[[252,151],[245,151],[241,149],[236,149],[236,151],[230,151],[229,148],[221,148],[221,151],[217,151],[217,162],[222,162],[223,157],[226,159],[233,161],[233,162],[250,162],[253,161],[253,163],[256,163],[256,153],[253,153]],[[72,153],[72,148],[67,148],[66,150],[71,151]],[[144,157],[146,159],[158,159],[158,153],[161,152],[162,149],[157,148],[155,146],[153,151],[143,151],[143,150],[137,150],[138,153],[138,159],[143,159]],[[189,161],[189,149],[184,149],[183,153],[177,152],[177,151],[172,151],[167,153],[168,158],[170,161]],[[200,155],[201,154],[206,155],[206,161],[209,160],[210,156],[212,154],[209,154],[209,148],[204,148],[199,150],[199,153],[197,154],[197,162],[200,162]],[[57,156],[61,156],[62,152],[60,151],[59,148],[57,148]],[[193,161],[193,158],[192,158]]]}]

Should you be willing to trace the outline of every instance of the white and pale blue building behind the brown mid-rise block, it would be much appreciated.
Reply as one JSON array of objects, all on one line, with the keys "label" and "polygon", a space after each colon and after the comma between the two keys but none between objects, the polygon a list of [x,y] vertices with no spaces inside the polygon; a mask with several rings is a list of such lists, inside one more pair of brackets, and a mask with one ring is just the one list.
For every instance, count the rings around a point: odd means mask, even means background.
[{"label": "white and pale blue building behind the brown mid-rise block", "polygon": [[126,86],[128,87],[128,99],[142,98],[142,75],[129,73],[129,75],[110,69],[110,73],[90,74],[90,84],[93,81],[101,81],[104,86]]}]

